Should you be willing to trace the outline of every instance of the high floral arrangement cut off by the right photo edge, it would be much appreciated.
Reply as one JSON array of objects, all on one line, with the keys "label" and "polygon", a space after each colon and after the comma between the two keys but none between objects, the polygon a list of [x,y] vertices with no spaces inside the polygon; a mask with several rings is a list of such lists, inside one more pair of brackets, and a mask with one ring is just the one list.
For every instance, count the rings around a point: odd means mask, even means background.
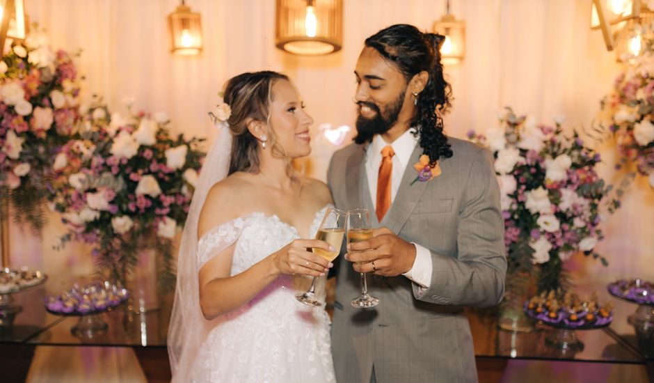
[{"label": "high floral arrangement cut off by the right photo edge", "polygon": [[622,165],[635,164],[654,187],[654,54],[635,59],[601,101],[600,124],[616,137]]}]

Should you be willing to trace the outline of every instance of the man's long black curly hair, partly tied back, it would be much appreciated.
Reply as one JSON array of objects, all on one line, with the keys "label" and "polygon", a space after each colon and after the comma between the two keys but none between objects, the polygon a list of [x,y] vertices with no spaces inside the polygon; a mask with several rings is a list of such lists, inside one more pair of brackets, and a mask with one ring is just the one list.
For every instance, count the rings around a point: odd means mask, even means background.
[{"label": "man's long black curly hair, partly tied back", "polygon": [[445,36],[422,33],[415,26],[395,24],[378,31],[365,40],[366,47],[374,48],[407,83],[413,76],[425,71],[429,81],[417,97],[416,114],[411,125],[417,127],[420,147],[429,156],[431,164],[441,157],[452,157],[452,149],[443,134],[442,116],[451,106],[452,88],[442,73],[440,45]]}]

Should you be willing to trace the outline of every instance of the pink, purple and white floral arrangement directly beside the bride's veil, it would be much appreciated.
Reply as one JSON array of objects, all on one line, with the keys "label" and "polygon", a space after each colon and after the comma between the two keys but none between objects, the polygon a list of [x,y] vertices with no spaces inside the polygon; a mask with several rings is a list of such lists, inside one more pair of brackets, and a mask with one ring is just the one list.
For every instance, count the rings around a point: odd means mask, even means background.
[{"label": "pink, purple and white floral arrangement directly beside the bride's veil", "polygon": [[67,240],[95,246],[102,276],[125,281],[137,251],[163,256],[159,281],[174,278],[172,243],[189,211],[204,153],[201,139],[173,137],[165,114],[109,114],[97,100],[83,114],[79,139],[54,159],[52,196]]}]

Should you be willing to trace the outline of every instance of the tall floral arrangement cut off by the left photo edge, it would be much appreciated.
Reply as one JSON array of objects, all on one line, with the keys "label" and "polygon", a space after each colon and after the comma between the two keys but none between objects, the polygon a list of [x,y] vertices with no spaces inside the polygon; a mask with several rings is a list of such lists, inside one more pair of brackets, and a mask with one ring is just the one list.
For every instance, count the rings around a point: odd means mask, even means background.
[{"label": "tall floral arrangement cut off by the left photo edge", "polygon": [[71,56],[50,49],[38,28],[0,60],[0,190],[17,221],[37,230],[45,221],[51,159],[79,118],[78,95]]}]

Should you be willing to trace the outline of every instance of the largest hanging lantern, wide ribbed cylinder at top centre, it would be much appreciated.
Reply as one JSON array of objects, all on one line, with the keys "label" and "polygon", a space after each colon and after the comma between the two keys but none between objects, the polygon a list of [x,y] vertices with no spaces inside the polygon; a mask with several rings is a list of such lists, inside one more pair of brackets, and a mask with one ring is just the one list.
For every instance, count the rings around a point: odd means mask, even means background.
[{"label": "largest hanging lantern, wide ribbed cylinder at top centre", "polygon": [[277,0],[275,43],[292,54],[315,56],[343,45],[343,0]]}]

